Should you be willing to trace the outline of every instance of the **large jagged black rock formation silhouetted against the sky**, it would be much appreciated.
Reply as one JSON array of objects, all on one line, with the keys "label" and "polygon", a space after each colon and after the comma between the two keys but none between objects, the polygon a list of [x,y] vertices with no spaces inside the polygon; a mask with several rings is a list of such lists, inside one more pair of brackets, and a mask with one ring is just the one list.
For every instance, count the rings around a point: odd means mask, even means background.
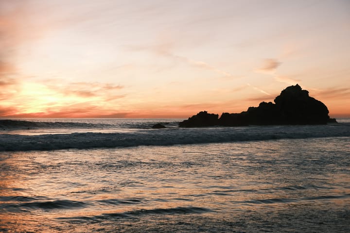
[{"label": "large jagged black rock formation silhouetted against the sky", "polygon": [[179,123],[180,127],[244,126],[244,125],[307,125],[336,123],[328,116],[328,109],[321,101],[309,96],[297,84],[288,86],[272,102],[261,102],[242,113],[217,114],[200,112]]}]

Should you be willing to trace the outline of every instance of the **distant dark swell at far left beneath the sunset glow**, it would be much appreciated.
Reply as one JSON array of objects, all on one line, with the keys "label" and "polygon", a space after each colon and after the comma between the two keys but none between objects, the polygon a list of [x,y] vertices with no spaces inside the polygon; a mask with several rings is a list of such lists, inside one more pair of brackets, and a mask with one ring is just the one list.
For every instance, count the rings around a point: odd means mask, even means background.
[{"label": "distant dark swell at far left beneath the sunset glow", "polygon": [[110,124],[93,124],[83,122],[44,122],[26,120],[0,120],[0,129],[23,130],[23,129],[62,129],[62,128],[110,128]]}]

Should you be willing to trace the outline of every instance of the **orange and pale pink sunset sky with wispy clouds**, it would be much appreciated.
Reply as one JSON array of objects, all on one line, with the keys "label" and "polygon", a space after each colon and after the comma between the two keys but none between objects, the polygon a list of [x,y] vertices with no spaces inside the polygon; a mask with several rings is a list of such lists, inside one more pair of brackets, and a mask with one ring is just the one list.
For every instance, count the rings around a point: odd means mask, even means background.
[{"label": "orange and pale pink sunset sky with wispy clouds", "polygon": [[349,0],[1,0],[0,117],[350,116]]}]

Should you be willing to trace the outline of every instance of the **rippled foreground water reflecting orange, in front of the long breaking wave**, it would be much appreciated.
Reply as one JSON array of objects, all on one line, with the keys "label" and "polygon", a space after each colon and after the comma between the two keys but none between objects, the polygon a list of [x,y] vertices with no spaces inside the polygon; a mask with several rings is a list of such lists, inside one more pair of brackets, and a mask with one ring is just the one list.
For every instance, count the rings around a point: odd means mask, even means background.
[{"label": "rippled foreground water reflecting orange, in front of the long breaking wave", "polygon": [[349,143],[0,152],[0,231],[345,233]]}]

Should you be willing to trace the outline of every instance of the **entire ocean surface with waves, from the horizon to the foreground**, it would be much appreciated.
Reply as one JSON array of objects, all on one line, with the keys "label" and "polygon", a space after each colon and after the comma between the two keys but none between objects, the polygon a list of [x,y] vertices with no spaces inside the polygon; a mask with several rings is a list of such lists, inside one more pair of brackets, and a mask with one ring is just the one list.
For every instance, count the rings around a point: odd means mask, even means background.
[{"label": "entire ocean surface with waves, from the horizon to the foreground", "polygon": [[0,233],[349,233],[350,119],[337,120],[0,120]]}]

